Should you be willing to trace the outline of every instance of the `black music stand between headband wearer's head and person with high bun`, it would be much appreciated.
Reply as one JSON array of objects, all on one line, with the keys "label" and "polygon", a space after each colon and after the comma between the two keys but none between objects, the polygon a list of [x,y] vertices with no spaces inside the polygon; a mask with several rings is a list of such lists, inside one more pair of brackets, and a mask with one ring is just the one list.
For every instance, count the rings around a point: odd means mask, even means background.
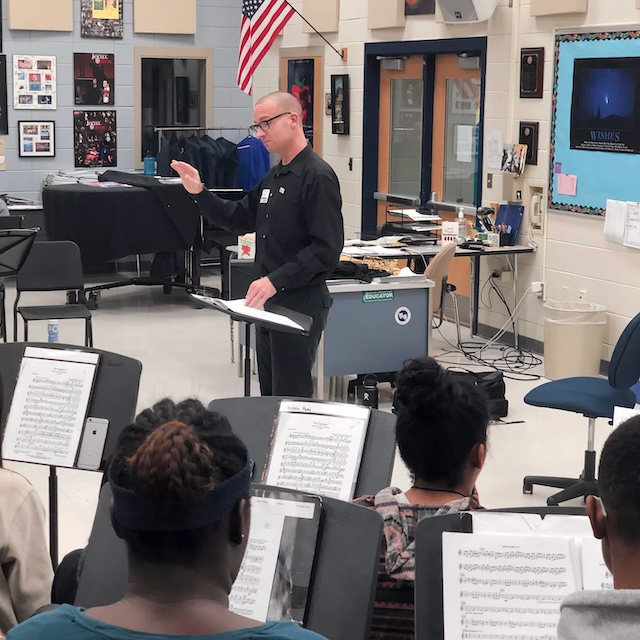
[{"label": "black music stand between headband wearer's head and person with high bun", "polygon": [[[207,407],[209,411],[217,411],[228,418],[234,433],[247,446],[258,473],[264,469],[271,446],[273,421],[283,399],[278,396],[221,398],[211,401]],[[310,398],[304,401],[316,402]],[[356,498],[375,495],[389,486],[396,452],[395,426],[394,414],[371,409],[356,482]]]}]

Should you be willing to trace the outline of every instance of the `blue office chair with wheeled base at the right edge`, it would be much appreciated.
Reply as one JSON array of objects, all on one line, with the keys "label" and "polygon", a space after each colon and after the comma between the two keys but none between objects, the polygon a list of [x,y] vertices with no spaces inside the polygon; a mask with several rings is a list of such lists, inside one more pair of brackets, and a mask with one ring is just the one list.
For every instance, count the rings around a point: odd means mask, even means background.
[{"label": "blue office chair with wheeled base at the right edge", "polygon": [[580,478],[555,478],[549,476],[525,476],[523,493],[532,493],[533,485],[563,489],[547,498],[548,505],[565,500],[597,495],[596,452],[594,437],[596,418],[613,418],[613,408],[633,407],[635,393],[631,387],[640,378],[640,314],[622,332],[609,363],[608,379],[565,378],[536,387],[524,398],[535,407],[561,409],[581,413],[589,418],[587,450],[584,452],[584,470]]}]

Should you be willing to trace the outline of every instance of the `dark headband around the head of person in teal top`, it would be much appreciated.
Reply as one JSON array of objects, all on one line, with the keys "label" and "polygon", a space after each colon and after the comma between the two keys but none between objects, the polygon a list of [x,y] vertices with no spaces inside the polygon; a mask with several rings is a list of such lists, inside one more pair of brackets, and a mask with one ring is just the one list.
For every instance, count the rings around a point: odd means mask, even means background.
[{"label": "dark headband around the head of person in teal top", "polygon": [[184,531],[222,520],[249,495],[253,461],[234,476],[221,482],[195,502],[161,506],[152,504],[131,489],[118,486],[109,471],[113,511],[118,522],[134,531]]}]

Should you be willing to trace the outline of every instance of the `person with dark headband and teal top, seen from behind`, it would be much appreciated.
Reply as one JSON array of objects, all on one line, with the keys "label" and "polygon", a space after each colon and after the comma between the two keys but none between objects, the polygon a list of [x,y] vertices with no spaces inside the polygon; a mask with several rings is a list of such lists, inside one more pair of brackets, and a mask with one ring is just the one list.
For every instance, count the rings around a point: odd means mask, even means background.
[{"label": "person with dark headband and teal top, seen from behind", "polygon": [[109,468],[112,519],[129,556],[129,588],[87,610],[63,604],[7,640],[321,640],[292,622],[229,611],[249,534],[253,463],[226,418],[198,400],[146,409],[120,435]]}]

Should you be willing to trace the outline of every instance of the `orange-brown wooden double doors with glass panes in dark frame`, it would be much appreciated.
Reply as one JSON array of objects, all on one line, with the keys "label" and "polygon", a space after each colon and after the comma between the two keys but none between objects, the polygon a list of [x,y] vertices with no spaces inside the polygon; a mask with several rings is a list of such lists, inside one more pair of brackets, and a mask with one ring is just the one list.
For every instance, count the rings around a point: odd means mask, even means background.
[{"label": "orange-brown wooden double doors with glass panes in dark frame", "polygon": [[[478,206],[479,58],[446,53],[380,62],[377,191],[422,202],[435,192],[443,202]],[[389,220],[389,206],[377,202],[378,225]],[[450,281],[470,295],[468,260],[453,262]]]}]

